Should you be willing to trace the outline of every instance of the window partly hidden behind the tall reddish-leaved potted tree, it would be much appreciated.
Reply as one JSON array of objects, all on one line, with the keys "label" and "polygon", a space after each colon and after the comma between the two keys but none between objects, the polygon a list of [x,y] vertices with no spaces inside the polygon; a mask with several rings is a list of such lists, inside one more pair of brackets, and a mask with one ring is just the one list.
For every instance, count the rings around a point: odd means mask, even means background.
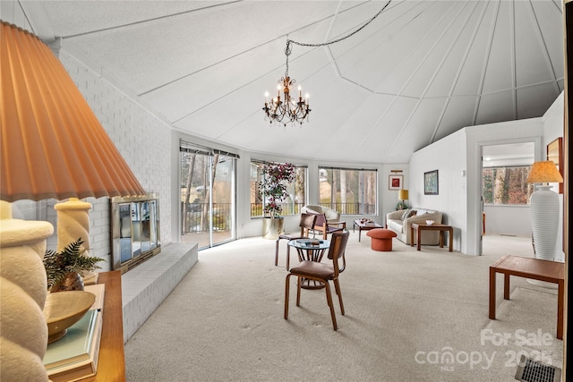
[{"label": "window partly hidden behind the tall reddish-leaved potted tree", "polygon": [[[251,161],[251,217],[263,216],[263,200],[261,192],[259,191],[259,184],[264,181],[262,174],[262,167],[265,162]],[[301,208],[306,204],[306,166],[295,166],[296,178],[295,182],[286,184],[286,191],[290,195],[289,198],[283,200],[280,205],[283,210],[281,216],[292,216],[301,213]]]}]

